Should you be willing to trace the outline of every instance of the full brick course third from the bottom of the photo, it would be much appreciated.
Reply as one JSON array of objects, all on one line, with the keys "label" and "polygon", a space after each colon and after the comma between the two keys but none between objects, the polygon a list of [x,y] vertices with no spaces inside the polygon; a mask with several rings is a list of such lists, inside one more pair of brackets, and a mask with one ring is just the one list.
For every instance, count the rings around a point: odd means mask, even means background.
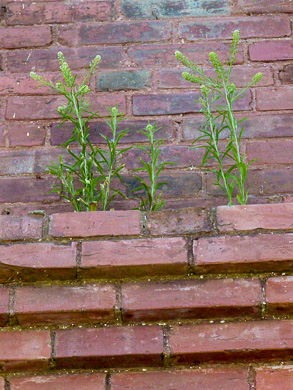
[{"label": "full brick course third from the bottom of the photo", "polygon": [[260,319],[293,314],[293,276],[0,287],[0,326]]}]

